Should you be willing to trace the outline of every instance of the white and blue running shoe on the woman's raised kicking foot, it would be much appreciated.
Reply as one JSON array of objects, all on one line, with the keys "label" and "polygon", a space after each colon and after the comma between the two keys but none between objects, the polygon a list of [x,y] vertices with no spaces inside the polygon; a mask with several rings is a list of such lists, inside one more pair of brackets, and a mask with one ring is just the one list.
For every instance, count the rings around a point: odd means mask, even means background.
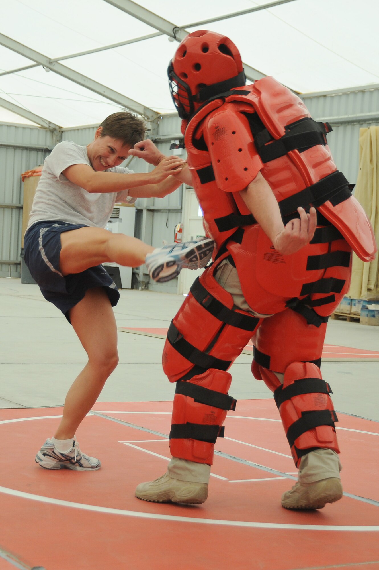
[{"label": "white and blue running shoe on the woman's raised kicking foot", "polygon": [[215,242],[200,238],[192,242],[169,243],[146,255],[146,266],[151,279],[158,283],[170,281],[183,268],[201,269],[212,257]]}]

